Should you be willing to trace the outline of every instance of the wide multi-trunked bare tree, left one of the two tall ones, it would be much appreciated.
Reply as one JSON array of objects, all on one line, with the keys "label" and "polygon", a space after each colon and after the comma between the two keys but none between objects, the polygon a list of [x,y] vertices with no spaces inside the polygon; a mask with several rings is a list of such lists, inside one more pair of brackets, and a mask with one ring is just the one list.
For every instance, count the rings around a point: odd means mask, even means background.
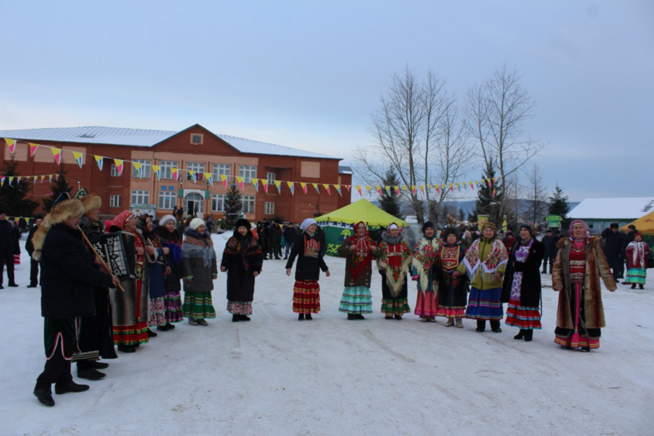
[{"label": "wide multi-trunked bare tree, left one of the two tall ones", "polygon": [[392,76],[389,90],[380,102],[370,127],[374,145],[355,150],[357,172],[374,185],[383,180],[390,165],[401,183],[409,187],[404,193],[422,224],[423,200],[440,205],[447,191],[433,198],[429,188],[423,194],[419,186],[448,183],[461,177],[468,163],[466,157],[470,153],[463,153],[465,135],[456,126],[456,100],[447,95],[445,81],[431,70],[421,82],[407,67],[401,76]]}]

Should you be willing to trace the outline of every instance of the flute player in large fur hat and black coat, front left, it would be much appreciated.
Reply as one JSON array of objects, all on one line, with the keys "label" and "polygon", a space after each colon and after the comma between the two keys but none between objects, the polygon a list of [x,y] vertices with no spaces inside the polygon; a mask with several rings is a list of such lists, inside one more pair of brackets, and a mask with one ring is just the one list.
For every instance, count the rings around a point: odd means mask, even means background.
[{"label": "flute player in large fur hat and black coat, front left", "polygon": [[83,353],[77,337],[79,317],[95,312],[93,286],[115,286],[118,277],[98,271],[77,224],[84,207],[79,200],[65,200],[46,216],[34,234],[33,257],[41,266],[41,314],[45,318],[45,369],[38,376],[34,395],[54,406],[56,394],[81,392],[87,385],[72,380],[70,362]]}]

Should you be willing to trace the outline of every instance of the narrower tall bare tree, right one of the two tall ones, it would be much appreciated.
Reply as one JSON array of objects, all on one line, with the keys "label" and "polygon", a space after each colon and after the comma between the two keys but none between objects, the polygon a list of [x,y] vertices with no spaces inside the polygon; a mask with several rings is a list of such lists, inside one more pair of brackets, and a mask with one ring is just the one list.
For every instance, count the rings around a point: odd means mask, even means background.
[{"label": "narrower tall bare tree, right one of the two tall ones", "polygon": [[[534,106],[529,92],[520,84],[518,73],[506,65],[468,90],[465,124],[486,168],[491,162],[497,168],[497,191],[505,191],[508,177],[545,147],[524,130],[525,122],[533,116]],[[507,205],[500,203],[499,209],[501,220]]]}]

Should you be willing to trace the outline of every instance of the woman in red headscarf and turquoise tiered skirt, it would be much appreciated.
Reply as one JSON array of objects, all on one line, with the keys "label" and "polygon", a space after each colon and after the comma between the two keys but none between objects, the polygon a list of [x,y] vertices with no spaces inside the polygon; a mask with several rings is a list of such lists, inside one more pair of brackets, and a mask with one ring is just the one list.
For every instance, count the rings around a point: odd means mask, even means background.
[{"label": "woman in red headscarf and turquoise tiered skirt", "polygon": [[349,320],[365,319],[363,314],[372,314],[372,258],[378,255],[377,244],[370,239],[363,221],[354,225],[354,235],[343,241],[337,253],[345,257],[345,289],[339,312],[347,314]]}]

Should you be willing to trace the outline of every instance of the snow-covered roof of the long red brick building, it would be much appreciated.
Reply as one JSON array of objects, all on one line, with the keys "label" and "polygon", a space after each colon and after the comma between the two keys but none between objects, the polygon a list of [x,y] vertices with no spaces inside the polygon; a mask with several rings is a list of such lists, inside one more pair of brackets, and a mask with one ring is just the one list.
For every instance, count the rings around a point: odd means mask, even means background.
[{"label": "snow-covered roof of the long red brick building", "polygon": [[[186,129],[184,129],[186,130]],[[120,127],[55,127],[49,129],[0,130],[0,138],[12,138],[38,142],[52,140],[62,143],[85,143],[106,145],[129,145],[133,147],[152,147],[170,138],[179,131],[123,129]],[[241,153],[275,154],[280,156],[314,157],[319,159],[340,159],[327,154],[308,152],[296,148],[230,135],[216,135],[232,145]]]}]

